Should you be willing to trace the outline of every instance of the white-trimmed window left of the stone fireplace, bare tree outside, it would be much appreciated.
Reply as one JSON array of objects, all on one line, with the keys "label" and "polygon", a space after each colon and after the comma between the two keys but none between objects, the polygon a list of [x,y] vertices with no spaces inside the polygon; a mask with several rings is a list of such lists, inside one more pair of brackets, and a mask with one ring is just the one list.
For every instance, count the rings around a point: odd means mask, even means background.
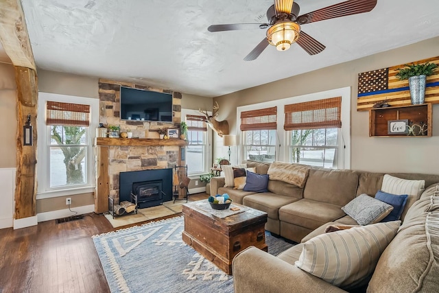
[{"label": "white-trimmed window left of the stone fireplace, bare tree outside", "polygon": [[43,117],[38,119],[38,163],[43,163],[38,164],[37,198],[93,191],[92,129],[99,100],[40,93],[38,103]]}]

